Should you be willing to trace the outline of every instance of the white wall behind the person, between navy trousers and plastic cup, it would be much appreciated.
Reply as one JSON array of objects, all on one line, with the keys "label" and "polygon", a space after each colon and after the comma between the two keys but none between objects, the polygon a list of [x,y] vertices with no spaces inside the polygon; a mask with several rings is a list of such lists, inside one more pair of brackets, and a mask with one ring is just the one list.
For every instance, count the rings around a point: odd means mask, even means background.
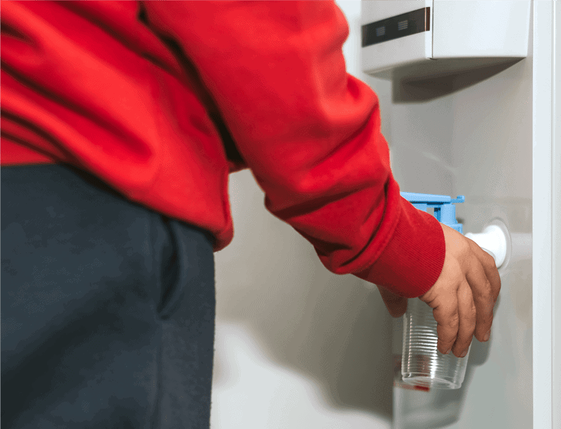
[{"label": "white wall behind the person, between navy trousers and plastic cup", "polygon": [[[360,1],[338,4],[351,27],[347,68],[363,79]],[[212,428],[390,428],[391,318],[379,292],[327,271],[266,212],[249,171],[231,175],[229,191],[234,241],[215,254]]]}]

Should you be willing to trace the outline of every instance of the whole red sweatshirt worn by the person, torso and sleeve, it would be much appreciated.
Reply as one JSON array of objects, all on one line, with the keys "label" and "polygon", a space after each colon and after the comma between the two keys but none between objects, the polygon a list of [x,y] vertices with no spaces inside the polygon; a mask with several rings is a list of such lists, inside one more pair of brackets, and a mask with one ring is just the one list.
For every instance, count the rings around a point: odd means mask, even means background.
[{"label": "whole red sweatshirt worn by the person, torso and sleeve", "polygon": [[2,1],[1,164],[75,165],[215,251],[250,168],[327,269],[417,297],[444,236],[400,197],[348,34],[332,1]]}]

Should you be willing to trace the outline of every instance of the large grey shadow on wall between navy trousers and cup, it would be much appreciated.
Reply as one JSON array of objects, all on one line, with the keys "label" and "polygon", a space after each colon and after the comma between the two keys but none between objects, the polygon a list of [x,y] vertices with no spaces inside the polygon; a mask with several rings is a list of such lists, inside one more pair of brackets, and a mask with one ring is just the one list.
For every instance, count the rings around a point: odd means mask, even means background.
[{"label": "large grey shadow on wall between navy trousers and cup", "polygon": [[271,362],[317,383],[326,407],[391,419],[391,316],[377,288],[327,271],[304,238],[266,212],[250,173],[233,176],[233,214],[243,222],[215,255],[217,322],[245,325]]}]

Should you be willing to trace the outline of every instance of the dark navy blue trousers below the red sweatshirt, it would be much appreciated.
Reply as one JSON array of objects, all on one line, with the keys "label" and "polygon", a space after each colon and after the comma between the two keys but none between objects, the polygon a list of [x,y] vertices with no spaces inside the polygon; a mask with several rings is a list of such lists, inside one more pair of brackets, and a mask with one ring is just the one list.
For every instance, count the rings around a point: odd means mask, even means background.
[{"label": "dark navy blue trousers below the red sweatshirt", "polygon": [[1,427],[208,428],[210,233],[69,165],[0,172]]}]

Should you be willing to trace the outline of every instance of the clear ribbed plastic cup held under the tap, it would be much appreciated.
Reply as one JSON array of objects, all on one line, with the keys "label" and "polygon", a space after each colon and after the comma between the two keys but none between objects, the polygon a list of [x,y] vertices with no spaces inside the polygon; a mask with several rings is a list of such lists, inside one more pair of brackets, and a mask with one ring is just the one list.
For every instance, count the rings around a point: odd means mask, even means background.
[{"label": "clear ribbed plastic cup held under the tap", "polygon": [[443,355],[437,349],[438,334],[433,309],[418,298],[409,299],[403,315],[403,382],[412,386],[459,389],[469,357]]}]

